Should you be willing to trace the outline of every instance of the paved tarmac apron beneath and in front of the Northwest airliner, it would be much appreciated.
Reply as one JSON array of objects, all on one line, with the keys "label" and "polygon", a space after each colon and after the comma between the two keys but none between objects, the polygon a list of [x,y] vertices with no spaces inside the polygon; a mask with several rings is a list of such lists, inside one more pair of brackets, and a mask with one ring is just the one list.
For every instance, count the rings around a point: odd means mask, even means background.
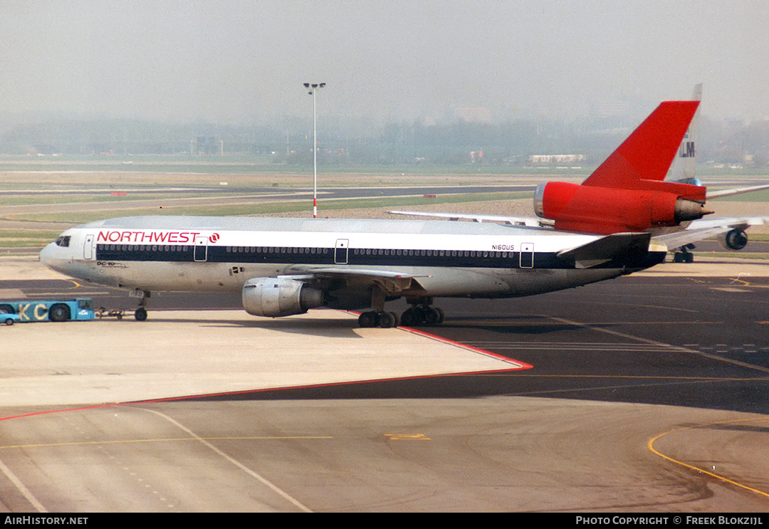
[{"label": "paved tarmac apron beneath and in front of the Northwest airliner", "polygon": [[[3,377],[37,369],[43,384],[5,395],[0,511],[767,511],[769,278],[685,266],[441,300],[444,325],[419,330],[468,349],[399,329],[362,336],[331,311],[250,318],[230,310],[238,296],[153,294],[143,323],[4,328]],[[131,304],[34,273],[0,289]],[[98,347],[18,347],[38,332]],[[164,333],[185,345],[168,354]],[[258,384],[271,363],[294,384]],[[245,368],[245,386],[211,391]],[[191,372],[195,398],[97,404],[118,379],[179,397],[175,379]],[[79,405],[53,400],[72,384],[45,384],[94,374],[96,396]]]}]

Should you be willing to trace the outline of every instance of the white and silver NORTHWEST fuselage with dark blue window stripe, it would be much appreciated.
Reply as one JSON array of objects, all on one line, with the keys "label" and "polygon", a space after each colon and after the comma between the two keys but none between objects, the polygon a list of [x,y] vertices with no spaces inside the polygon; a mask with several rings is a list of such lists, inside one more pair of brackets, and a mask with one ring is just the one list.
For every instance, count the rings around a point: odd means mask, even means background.
[{"label": "white and silver NORTHWEST fuselage with dark blue window stripe", "polygon": [[239,291],[253,278],[298,278],[357,308],[390,297],[501,298],[614,278],[659,262],[575,268],[558,257],[595,235],[452,221],[133,217],[65,231],[40,253],[63,274],[140,291]]}]

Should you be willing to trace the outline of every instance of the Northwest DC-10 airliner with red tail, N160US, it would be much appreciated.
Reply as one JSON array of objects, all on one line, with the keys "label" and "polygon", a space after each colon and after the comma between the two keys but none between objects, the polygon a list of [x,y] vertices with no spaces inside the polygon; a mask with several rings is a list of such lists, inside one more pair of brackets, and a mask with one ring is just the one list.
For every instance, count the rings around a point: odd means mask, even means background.
[{"label": "Northwest DC-10 airliner with red tail, N160US", "polygon": [[[245,311],[256,316],[329,307],[363,309],[361,327],[438,324],[443,313],[432,307],[434,298],[541,294],[664,261],[667,246],[644,223],[674,226],[707,213],[704,188],[659,181],[697,105],[657,107],[588,178],[601,184],[595,190],[545,188],[548,211],[565,219],[555,229],[445,220],[129,217],[68,229],[40,259],[74,278],[131,291],[139,298],[137,320],[147,318],[151,291],[241,291]],[[635,182],[629,195],[627,181]],[[400,318],[384,308],[398,298],[411,304]]]}]

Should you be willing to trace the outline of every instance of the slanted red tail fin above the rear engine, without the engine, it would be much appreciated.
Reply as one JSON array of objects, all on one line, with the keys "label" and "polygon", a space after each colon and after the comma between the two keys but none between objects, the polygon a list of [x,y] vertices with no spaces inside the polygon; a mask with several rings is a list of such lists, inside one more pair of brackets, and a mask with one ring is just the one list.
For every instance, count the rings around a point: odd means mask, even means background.
[{"label": "slanted red tail fin above the rear engine, without the engine", "polygon": [[661,103],[582,184],[637,189],[640,180],[664,180],[699,104]]}]

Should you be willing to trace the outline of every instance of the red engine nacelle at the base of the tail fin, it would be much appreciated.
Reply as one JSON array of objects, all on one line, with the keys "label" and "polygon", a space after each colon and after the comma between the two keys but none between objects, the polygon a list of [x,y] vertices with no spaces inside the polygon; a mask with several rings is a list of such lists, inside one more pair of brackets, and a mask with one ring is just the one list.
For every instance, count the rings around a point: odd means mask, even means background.
[{"label": "red engine nacelle at the base of the tail fin", "polygon": [[711,213],[704,201],[667,191],[667,182],[649,182],[648,189],[603,188],[568,182],[540,184],[534,211],[555,221],[555,228],[611,234],[675,226]]}]

